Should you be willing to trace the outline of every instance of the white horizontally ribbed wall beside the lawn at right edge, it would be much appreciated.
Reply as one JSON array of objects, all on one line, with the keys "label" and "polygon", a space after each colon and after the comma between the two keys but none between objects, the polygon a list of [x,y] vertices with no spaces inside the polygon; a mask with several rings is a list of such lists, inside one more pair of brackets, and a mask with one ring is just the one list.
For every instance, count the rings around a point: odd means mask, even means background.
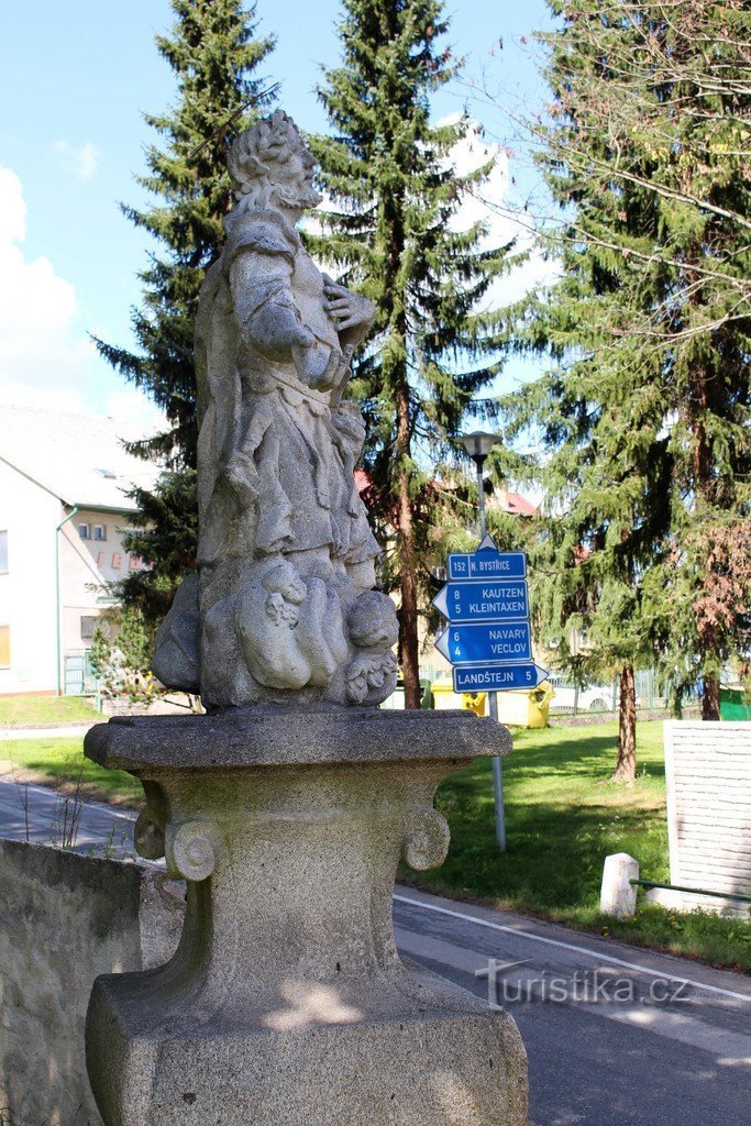
[{"label": "white horizontally ribbed wall beside the lawn at right edge", "polygon": [[[664,740],[671,884],[750,894],[751,723],[673,721]],[[682,899],[686,908],[749,911],[735,900]]]}]

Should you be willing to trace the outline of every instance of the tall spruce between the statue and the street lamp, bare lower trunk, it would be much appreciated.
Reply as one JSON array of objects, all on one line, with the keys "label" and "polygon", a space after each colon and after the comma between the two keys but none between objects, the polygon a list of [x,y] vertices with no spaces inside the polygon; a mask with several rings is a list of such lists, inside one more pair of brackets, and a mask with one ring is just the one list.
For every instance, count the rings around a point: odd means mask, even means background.
[{"label": "tall spruce between the statue and the street lamp, bare lower trunk", "polygon": [[330,208],[311,243],[377,310],[350,393],[368,425],[370,511],[376,528],[388,529],[382,578],[400,595],[405,699],[415,707],[418,616],[435,590],[436,529],[456,524],[452,491],[430,466],[467,411],[482,410],[477,396],[498,370],[497,319],[477,307],[503,252],[480,249],[482,224],[452,225],[490,164],[457,175],[449,154],[470,123],[430,122],[430,96],[455,68],[450,48],[439,46],[442,5],[345,0],[339,30],[342,62],[319,91],[334,135],[313,140]]}]

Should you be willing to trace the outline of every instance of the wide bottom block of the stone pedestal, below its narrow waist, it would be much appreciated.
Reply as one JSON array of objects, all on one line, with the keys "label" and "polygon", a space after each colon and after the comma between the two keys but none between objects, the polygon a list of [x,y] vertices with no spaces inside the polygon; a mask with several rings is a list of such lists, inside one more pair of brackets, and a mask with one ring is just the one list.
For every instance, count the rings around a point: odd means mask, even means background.
[{"label": "wide bottom block of the stone pedestal, below its narrow waist", "polygon": [[169,1018],[143,1029],[135,975],[100,977],[89,1010],[89,1070],[105,1120],[524,1126],[526,1054],[513,1020],[424,971],[410,977],[442,1006],[415,1008],[405,998],[403,1013],[368,1018],[337,991],[311,988],[294,1003],[279,998],[266,1027],[214,1021],[175,1034]]}]

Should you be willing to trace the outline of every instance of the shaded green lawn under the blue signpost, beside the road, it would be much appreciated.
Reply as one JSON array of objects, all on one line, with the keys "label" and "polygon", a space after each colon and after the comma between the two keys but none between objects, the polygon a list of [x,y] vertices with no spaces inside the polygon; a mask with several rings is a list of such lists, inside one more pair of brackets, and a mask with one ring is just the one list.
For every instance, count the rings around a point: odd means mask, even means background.
[{"label": "shaded green lawn under the blue signpost, beside the road", "polygon": [[602,861],[629,852],[644,879],[668,882],[662,723],[638,724],[638,778],[609,780],[617,724],[515,732],[503,760],[508,850],[495,847],[491,760],[476,759],[438,789],[452,829],[444,866],[400,876],[415,886],[539,915],[626,942],[751,968],[751,923],[649,905],[634,920],[599,913]]}]

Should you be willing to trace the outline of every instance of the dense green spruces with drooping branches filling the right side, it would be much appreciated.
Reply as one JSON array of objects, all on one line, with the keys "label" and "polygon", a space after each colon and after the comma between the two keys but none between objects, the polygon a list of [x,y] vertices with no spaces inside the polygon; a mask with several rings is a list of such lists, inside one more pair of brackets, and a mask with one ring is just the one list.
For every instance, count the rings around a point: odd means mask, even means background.
[{"label": "dense green spruces with drooping branches filling the right side", "polygon": [[551,609],[558,625],[583,614],[626,681],[628,654],[660,659],[679,689],[700,676],[716,718],[751,598],[726,546],[748,560],[751,15],[741,0],[551,7],[542,159],[562,278],[516,312],[519,347],[554,366],[507,404],[549,452]]}]

